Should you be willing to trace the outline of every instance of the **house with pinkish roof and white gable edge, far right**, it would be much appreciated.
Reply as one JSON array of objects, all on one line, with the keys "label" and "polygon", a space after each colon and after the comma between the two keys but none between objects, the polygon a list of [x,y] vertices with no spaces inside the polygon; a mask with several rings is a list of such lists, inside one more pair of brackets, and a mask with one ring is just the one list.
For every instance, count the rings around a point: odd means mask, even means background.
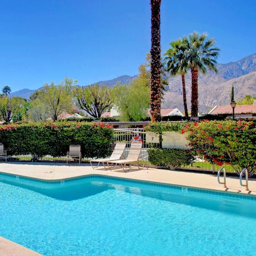
[{"label": "house with pinkish roof and white gable edge, far right", "polygon": [[[208,114],[211,115],[225,115],[232,116],[233,108],[230,105],[227,106],[215,106]],[[250,117],[256,114],[256,104],[250,105],[236,105],[235,116],[236,117]]]}]

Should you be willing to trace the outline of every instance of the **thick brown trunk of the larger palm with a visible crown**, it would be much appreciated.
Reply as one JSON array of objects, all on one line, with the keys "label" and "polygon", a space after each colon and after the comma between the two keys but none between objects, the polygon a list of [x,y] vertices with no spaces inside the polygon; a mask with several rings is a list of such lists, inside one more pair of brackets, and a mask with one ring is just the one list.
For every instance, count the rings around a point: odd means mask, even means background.
[{"label": "thick brown trunk of the larger palm with a visible crown", "polygon": [[192,86],[191,86],[191,117],[198,116],[198,69],[191,68]]}]

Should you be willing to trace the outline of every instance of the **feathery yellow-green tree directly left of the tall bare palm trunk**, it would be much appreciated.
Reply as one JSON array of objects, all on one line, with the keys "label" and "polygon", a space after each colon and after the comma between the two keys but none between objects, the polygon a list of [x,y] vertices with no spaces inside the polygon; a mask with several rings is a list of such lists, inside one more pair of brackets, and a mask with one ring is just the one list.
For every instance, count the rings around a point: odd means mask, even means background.
[{"label": "feathery yellow-green tree directly left of the tall bare palm trunk", "polygon": [[150,103],[150,71],[147,70],[147,63],[140,66],[138,77],[129,84],[116,84],[111,97],[121,112],[122,121],[141,121],[145,118]]}]

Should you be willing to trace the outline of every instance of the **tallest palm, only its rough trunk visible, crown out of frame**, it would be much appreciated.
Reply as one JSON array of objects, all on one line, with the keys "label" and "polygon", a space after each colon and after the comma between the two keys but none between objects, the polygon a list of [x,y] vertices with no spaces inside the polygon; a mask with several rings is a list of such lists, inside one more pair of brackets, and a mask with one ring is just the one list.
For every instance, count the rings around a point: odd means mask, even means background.
[{"label": "tallest palm, only its rough trunk visible, crown out of frame", "polygon": [[161,121],[161,44],[160,5],[161,0],[150,0],[151,5],[151,79],[150,113],[151,122]]}]

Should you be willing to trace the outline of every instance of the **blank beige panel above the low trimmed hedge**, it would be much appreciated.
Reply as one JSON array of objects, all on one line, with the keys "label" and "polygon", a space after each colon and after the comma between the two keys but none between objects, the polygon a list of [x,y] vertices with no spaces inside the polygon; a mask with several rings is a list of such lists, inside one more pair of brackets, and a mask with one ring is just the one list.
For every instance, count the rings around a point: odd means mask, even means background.
[{"label": "blank beige panel above the low trimmed hedge", "polygon": [[180,134],[179,132],[163,132],[162,138],[163,148],[190,148],[188,146],[190,141],[186,139],[186,134]]}]

